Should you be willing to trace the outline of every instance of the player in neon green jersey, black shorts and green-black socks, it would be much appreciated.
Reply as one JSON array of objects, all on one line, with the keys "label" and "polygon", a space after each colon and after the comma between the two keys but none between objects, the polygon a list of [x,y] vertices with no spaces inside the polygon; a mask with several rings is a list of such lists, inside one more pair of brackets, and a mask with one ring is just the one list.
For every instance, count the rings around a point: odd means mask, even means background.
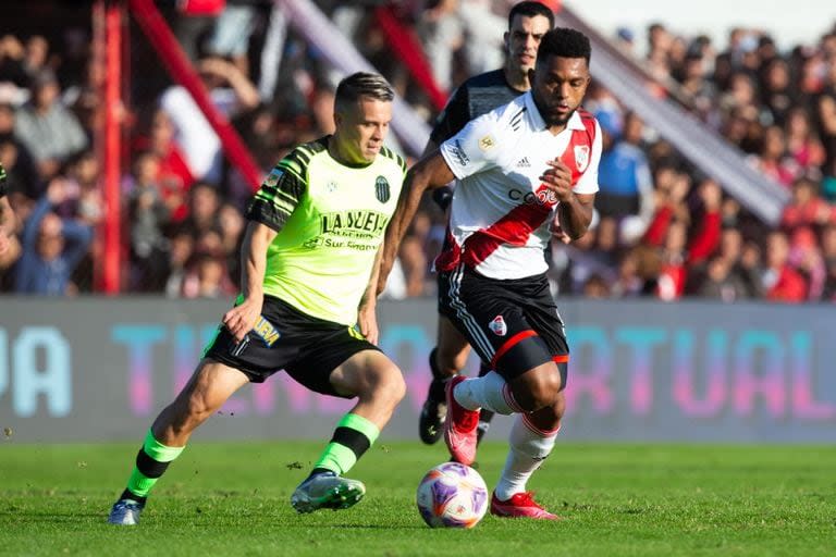
[{"label": "player in neon green jersey, black shorts and green-black socks", "polygon": [[374,287],[383,234],[406,172],[383,146],[393,90],[356,73],[336,88],[335,132],[296,147],[247,209],[242,293],[176,399],[160,412],[108,521],[136,524],[149,491],[192,432],[245,383],[279,370],[318,393],[357,398],[310,475],[298,512],[342,509],[366,492],[342,474],[374,443],[406,392],[377,346]]}]

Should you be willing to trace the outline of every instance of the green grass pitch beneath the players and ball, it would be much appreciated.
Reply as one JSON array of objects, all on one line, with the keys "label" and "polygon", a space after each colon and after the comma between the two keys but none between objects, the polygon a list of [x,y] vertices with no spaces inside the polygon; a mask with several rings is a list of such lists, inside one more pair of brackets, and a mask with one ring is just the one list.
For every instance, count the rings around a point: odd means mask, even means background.
[{"label": "green grass pitch beneath the players and ball", "polygon": [[[529,487],[561,522],[487,516],[432,530],[415,508],[443,444],[382,440],[348,474],[368,493],[342,511],[288,499],[322,442],[194,441],[135,528],[106,523],[134,444],[0,442],[0,555],[836,555],[836,448],[558,443]],[[485,443],[489,487],[505,445]]]}]

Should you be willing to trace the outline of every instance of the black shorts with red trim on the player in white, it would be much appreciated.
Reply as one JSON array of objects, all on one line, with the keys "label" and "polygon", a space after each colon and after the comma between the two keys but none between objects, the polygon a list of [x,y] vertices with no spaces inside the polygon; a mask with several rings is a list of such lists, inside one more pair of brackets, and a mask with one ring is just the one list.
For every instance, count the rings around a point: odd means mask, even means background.
[{"label": "black shorts with red trim on the player in white", "polygon": [[569,346],[545,275],[488,278],[459,265],[439,273],[439,313],[506,380],[553,361],[566,387]]}]

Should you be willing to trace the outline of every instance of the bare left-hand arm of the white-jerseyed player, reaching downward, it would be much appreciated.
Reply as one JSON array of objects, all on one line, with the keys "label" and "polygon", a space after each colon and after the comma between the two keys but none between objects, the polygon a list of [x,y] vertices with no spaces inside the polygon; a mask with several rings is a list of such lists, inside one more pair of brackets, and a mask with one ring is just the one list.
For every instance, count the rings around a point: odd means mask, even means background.
[{"label": "bare left-hand arm of the white-jerseyed player, reaching downward", "polygon": [[378,278],[378,294],[383,292],[386,285],[386,278],[392,271],[392,265],[397,257],[397,249],[404,234],[413,222],[413,216],[421,202],[421,196],[428,188],[441,187],[455,180],[453,171],[450,170],[447,162],[435,150],[422,158],[409,169],[406,173],[404,187],[401,189],[401,197],[397,199],[397,207],[392,215],[392,220],[386,227],[386,235],[383,239],[383,258],[380,263],[380,277]]}]

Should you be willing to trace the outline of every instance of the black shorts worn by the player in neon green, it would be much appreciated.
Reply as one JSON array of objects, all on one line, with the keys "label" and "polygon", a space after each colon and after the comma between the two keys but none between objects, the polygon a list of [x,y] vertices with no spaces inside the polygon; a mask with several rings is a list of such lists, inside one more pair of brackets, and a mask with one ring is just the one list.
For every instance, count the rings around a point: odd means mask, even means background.
[{"label": "black shorts worn by the player in neon green", "polygon": [[241,370],[253,383],[263,383],[284,370],[311,391],[343,396],[331,386],[331,372],[362,350],[380,348],[354,327],[312,318],[279,298],[265,296],[261,318],[244,341],[236,343],[221,324],[204,357]]}]

